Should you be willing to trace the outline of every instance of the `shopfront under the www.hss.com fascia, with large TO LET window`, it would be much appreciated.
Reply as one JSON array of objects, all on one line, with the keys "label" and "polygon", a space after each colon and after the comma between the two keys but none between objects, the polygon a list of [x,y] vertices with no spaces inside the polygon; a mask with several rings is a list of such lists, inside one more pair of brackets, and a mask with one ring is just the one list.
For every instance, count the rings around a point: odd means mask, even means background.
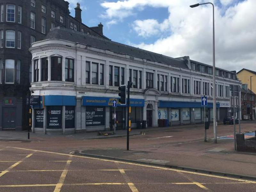
[{"label": "shopfront under the www.hss.com fascia, with large TO LET window", "polygon": [[[114,112],[113,100],[115,97],[90,97],[84,96],[82,108],[85,111],[86,132],[113,130]],[[143,99],[130,99],[132,127],[136,127],[137,121],[143,120]],[[126,105],[117,103],[116,123],[117,129],[126,129]]]}]

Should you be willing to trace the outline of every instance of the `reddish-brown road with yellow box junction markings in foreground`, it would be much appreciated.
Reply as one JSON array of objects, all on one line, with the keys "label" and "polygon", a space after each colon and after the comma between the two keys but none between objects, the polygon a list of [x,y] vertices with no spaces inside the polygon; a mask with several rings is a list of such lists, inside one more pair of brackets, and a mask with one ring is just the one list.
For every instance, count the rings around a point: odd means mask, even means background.
[{"label": "reddish-brown road with yellow box junction markings in foreground", "polygon": [[0,144],[0,191],[253,192],[256,181]]}]

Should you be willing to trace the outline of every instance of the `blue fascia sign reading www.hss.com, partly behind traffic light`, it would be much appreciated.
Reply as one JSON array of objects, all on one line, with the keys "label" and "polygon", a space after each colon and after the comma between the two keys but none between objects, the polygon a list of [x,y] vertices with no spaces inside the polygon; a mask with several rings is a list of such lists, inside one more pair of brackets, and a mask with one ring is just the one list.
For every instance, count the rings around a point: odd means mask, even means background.
[{"label": "blue fascia sign reading www.hss.com, partly behind traffic light", "polygon": [[[113,97],[83,97],[83,106],[113,106],[113,100],[118,100],[118,98]],[[144,107],[144,99],[130,99],[131,107]],[[126,105],[120,105],[117,103],[118,107],[126,107]]]}]

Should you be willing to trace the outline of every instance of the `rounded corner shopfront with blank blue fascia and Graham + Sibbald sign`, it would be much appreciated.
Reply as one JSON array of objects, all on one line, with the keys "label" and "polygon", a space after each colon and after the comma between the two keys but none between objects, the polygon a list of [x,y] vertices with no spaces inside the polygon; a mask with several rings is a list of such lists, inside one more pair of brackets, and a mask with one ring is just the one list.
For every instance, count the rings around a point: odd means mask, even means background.
[{"label": "rounded corner shopfront with blank blue fascia and Graham + Sibbald sign", "polygon": [[41,96],[41,106],[34,106],[32,130],[34,132],[75,132],[75,96]]}]

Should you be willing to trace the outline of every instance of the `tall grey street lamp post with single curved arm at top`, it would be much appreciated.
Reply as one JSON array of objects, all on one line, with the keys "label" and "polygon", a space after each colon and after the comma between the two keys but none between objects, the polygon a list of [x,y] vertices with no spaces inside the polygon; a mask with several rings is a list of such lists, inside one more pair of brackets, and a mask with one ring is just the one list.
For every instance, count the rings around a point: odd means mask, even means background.
[{"label": "tall grey street lamp post with single curved arm at top", "polygon": [[201,4],[194,4],[190,5],[191,8],[198,7],[199,5],[204,5],[204,4],[211,4],[213,8],[213,38],[212,38],[212,73],[213,73],[213,134],[214,134],[214,143],[217,143],[217,121],[216,121],[216,80],[215,80],[215,27],[214,27],[214,4],[212,3],[201,3]]}]

